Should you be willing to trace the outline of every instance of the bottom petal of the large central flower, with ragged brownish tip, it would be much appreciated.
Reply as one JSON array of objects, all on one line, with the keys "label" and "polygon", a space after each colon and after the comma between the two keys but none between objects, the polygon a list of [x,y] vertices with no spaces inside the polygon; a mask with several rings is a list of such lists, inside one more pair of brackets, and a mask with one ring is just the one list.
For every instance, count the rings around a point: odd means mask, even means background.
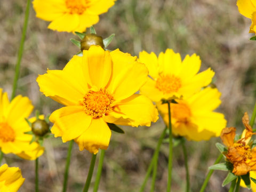
[{"label": "bottom petal of the large central flower, with ragged brownish tip", "polygon": [[102,118],[92,119],[89,128],[75,142],[79,146],[79,150],[89,150],[90,153],[97,154],[100,149],[107,149],[111,131]]}]

